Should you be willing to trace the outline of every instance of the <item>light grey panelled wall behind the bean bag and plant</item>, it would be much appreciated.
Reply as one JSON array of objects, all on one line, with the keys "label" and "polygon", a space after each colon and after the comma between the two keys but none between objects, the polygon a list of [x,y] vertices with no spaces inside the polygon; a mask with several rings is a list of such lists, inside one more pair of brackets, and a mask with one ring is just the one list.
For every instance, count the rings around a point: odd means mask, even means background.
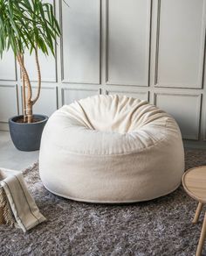
[{"label": "light grey panelled wall behind the bean bag and plant", "polygon": [[[96,94],[147,100],[168,111],[190,146],[206,146],[206,0],[50,1],[62,28],[56,60],[40,55],[36,113]],[[33,57],[25,56],[36,92]],[[22,113],[19,68],[0,61],[0,130]]]}]

